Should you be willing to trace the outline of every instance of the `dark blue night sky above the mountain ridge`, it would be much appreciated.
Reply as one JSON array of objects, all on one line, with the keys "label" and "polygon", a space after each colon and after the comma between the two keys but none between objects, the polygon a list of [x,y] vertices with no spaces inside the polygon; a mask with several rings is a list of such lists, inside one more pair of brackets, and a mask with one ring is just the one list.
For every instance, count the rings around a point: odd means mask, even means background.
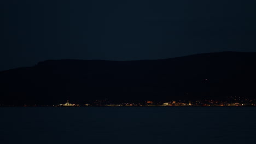
[{"label": "dark blue night sky above the mountain ridge", "polygon": [[46,59],[255,52],[256,1],[2,0],[0,70]]}]

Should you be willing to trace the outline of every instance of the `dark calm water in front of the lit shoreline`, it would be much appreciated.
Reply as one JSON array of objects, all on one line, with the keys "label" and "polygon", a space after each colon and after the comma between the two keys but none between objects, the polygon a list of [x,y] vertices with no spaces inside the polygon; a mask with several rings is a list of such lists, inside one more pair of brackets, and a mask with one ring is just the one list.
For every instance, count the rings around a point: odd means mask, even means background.
[{"label": "dark calm water in front of the lit shoreline", "polygon": [[0,143],[256,143],[256,107],[0,107]]}]

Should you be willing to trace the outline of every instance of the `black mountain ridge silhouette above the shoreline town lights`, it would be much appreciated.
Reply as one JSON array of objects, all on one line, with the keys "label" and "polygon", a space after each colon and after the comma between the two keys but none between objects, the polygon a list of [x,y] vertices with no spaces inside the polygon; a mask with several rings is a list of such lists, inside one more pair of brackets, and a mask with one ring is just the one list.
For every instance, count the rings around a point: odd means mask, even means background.
[{"label": "black mountain ridge silhouette above the shoreline town lights", "polygon": [[142,61],[48,60],[0,72],[0,104],[256,98],[256,52]]}]

